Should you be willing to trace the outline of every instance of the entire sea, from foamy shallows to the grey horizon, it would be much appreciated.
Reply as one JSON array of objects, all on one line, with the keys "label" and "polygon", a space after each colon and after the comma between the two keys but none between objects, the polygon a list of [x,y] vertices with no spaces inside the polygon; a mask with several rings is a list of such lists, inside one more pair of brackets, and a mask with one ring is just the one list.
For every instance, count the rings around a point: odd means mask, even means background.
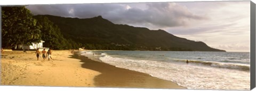
[{"label": "entire sea, from foamy shallows to the grey horizon", "polygon": [[170,80],[188,89],[250,89],[249,52],[83,51],[80,54]]}]

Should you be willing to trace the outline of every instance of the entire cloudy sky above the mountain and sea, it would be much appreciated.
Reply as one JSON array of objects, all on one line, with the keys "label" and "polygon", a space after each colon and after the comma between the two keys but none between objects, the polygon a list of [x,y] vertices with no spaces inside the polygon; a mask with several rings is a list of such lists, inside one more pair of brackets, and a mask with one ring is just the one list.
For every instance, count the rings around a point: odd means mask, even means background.
[{"label": "entire cloudy sky above the mountain and sea", "polygon": [[101,15],[116,24],[163,29],[228,52],[250,51],[250,1],[28,5],[35,15]]}]

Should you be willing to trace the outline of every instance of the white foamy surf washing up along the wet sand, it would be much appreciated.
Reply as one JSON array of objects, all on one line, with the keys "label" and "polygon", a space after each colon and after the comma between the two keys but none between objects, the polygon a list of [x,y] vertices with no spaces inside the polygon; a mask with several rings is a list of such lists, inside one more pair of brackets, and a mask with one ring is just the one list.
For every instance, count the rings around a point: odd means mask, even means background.
[{"label": "white foamy surf washing up along the wet sand", "polygon": [[[81,54],[91,56],[118,68],[147,73],[150,76],[176,82],[188,89],[250,89],[250,68],[247,65],[205,61],[172,60],[154,61],[132,59],[132,57],[92,52]],[[94,57],[93,57],[94,56]]]}]

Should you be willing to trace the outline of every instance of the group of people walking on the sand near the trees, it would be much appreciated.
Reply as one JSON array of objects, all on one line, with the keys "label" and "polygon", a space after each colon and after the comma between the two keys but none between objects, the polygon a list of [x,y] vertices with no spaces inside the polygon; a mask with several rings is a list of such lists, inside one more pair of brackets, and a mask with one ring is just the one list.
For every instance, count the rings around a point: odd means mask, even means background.
[{"label": "group of people walking on the sand near the trees", "polygon": [[[51,48],[46,52],[45,51],[45,48],[44,50],[42,51],[42,54],[43,54],[43,59],[47,59],[48,57],[48,60],[50,60],[50,58],[52,59],[51,55],[52,55],[52,51],[51,51]],[[39,59],[39,55],[40,55],[40,52],[39,52],[39,48],[36,49],[36,57],[37,57],[37,60]]]}]

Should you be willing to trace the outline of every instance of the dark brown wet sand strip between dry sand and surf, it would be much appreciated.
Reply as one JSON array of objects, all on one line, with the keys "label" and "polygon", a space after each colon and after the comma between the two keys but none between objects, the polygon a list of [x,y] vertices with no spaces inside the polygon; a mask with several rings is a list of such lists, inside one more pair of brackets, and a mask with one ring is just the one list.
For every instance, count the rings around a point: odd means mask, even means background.
[{"label": "dark brown wet sand strip between dry sand and surf", "polygon": [[71,58],[84,62],[82,68],[101,73],[94,78],[94,85],[96,87],[187,89],[169,80],[156,78],[138,71],[117,68],[114,65],[103,62],[93,61],[77,53]]}]

